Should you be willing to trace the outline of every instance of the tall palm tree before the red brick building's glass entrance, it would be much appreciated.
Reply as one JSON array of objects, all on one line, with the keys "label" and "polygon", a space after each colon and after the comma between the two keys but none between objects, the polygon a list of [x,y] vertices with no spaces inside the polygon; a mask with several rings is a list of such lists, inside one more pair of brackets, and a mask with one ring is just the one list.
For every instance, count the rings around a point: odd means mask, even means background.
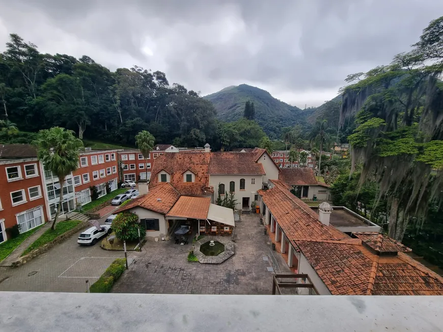
[{"label": "tall palm tree before the red brick building's glass entrance", "polygon": [[52,127],[40,130],[33,145],[37,146],[37,156],[43,163],[45,170],[51,171],[59,178],[60,199],[51,226],[53,230],[62,209],[63,185],[66,176],[77,169],[78,157],[80,148],[83,147],[83,142],[75,137],[72,130]]}]

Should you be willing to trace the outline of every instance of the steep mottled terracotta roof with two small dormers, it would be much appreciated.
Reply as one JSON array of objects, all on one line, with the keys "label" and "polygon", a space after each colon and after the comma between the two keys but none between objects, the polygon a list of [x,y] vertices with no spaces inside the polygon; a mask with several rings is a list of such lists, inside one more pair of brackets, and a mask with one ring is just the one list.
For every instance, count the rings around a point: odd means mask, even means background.
[{"label": "steep mottled terracotta roof with two small dormers", "polygon": [[[171,152],[163,153],[155,159],[152,167],[151,186],[156,186],[158,176],[156,174],[164,170],[171,174],[171,184],[181,195],[210,195],[213,190],[209,188],[207,152]],[[184,182],[183,173],[192,169],[195,174],[195,182]]]}]

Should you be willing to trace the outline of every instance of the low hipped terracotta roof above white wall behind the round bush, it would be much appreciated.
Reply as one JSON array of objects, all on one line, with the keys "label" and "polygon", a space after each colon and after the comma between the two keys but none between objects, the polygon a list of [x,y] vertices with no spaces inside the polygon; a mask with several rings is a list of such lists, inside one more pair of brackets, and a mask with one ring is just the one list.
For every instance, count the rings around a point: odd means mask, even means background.
[{"label": "low hipped terracotta roof above white wall behind the round bush", "polygon": [[135,198],[114,213],[140,206],[148,210],[166,214],[180,197],[178,191],[169,183],[160,183],[156,187],[149,189],[150,191],[146,195]]}]

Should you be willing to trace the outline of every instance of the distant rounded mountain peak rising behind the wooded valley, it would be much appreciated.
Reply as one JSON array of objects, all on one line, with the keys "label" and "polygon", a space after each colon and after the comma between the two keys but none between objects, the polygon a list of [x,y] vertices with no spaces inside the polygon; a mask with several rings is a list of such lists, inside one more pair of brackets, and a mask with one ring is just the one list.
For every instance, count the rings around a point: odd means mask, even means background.
[{"label": "distant rounded mountain peak rising behind the wooded valley", "polygon": [[243,117],[246,101],[254,102],[256,120],[271,139],[280,137],[283,127],[306,124],[312,110],[302,110],[271,96],[265,90],[246,84],[227,87],[203,97],[211,101],[217,110],[217,118],[226,122]]}]

